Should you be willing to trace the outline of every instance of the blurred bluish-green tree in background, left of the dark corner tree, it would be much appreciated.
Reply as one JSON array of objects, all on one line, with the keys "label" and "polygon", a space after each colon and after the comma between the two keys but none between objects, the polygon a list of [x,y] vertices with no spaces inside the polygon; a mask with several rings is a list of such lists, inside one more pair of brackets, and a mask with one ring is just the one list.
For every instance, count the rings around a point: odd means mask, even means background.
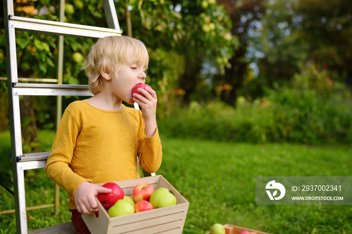
[{"label": "blurred bluish-green tree in background, left of the dark corner tree", "polygon": [[[301,40],[300,30],[296,30],[300,16],[294,11],[295,2],[267,3],[267,12],[261,20],[260,36],[255,45],[263,53],[256,58],[260,70],[257,79],[265,80],[265,86],[273,87],[275,82],[287,83],[308,59],[309,45]],[[252,91],[251,95],[254,93]]]}]

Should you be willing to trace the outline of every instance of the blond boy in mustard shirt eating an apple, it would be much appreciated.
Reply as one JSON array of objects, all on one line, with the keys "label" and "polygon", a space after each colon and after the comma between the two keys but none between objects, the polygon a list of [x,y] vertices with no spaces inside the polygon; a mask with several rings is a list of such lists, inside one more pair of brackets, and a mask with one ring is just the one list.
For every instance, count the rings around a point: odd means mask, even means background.
[{"label": "blond boy in mustard shirt eating an apple", "polygon": [[[154,90],[132,88],[145,82],[148,51],[126,36],[101,38],[85,60],[93,97],[69,104],[62,115],[45,171],[67,191],[77,233],[89,233],[81,213],[98,209],[95,196],[111,189],[95,183],[139,178],[139,165],[155,172],[162,151],[156,126]],[[126,107],[137,102],[142,111]]]}]

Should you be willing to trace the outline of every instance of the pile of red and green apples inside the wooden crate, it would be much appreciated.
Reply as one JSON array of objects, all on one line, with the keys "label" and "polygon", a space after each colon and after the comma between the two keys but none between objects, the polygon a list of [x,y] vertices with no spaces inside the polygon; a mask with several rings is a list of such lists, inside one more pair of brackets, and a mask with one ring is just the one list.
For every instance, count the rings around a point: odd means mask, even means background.
[{"label": "pile of red and green apples inside the wooden crate", "polygon": [[[108,211],[110,217],[141,212],[176,204],[176,197],[167,188],[154,187],[148,183],[139,183],[133,188],[132,197],[125,196],[122,188],[109,182],[102,187],[110,188],[110,193],[98,193],[97,198]],[[96,212],[98,217],[99,212]]]}]

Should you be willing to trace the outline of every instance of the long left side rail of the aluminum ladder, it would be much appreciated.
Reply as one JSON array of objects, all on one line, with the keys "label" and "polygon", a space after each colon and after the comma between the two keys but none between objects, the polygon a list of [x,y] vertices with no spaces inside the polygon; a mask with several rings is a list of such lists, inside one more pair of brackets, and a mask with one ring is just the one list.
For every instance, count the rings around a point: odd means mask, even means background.
[{"label": "long left side rail of the aluminum ladder", "polygon": [[[10,27],[9,15],[14,15],[14,5],[10,0],[4,1],[4,23],[5,23],[5,40],[6,40],[6,59],[7,59],[7,76],[8,84],[18,82],[17,73],[17,55],[16,55],[16,38],[15,28]],[[17,196],[15,199],[16,212],[16,231],[17,233],[27,233],[27,210],[26,210],[26,193],[24,171],[19,168],[16,162],[17,156],[23,154],[21,118],[20,118],[20,99],[19,96],[13,95],[13,88],[8,86],[9,93],[9,115],[11,131],[11,153],[12,153],[12,171],[14,180],[14,192]]]}]

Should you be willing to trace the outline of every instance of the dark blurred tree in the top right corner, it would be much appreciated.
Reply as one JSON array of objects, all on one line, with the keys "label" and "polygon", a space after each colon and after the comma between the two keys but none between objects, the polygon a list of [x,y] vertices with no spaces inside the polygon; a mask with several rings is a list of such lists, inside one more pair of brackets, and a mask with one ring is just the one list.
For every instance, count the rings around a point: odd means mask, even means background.
[{"label": "dark blurred tree in the top right corner", "polygon": [[298,0],[301,36],[310,60],[352,79],[352,5],[348,0]]}]

